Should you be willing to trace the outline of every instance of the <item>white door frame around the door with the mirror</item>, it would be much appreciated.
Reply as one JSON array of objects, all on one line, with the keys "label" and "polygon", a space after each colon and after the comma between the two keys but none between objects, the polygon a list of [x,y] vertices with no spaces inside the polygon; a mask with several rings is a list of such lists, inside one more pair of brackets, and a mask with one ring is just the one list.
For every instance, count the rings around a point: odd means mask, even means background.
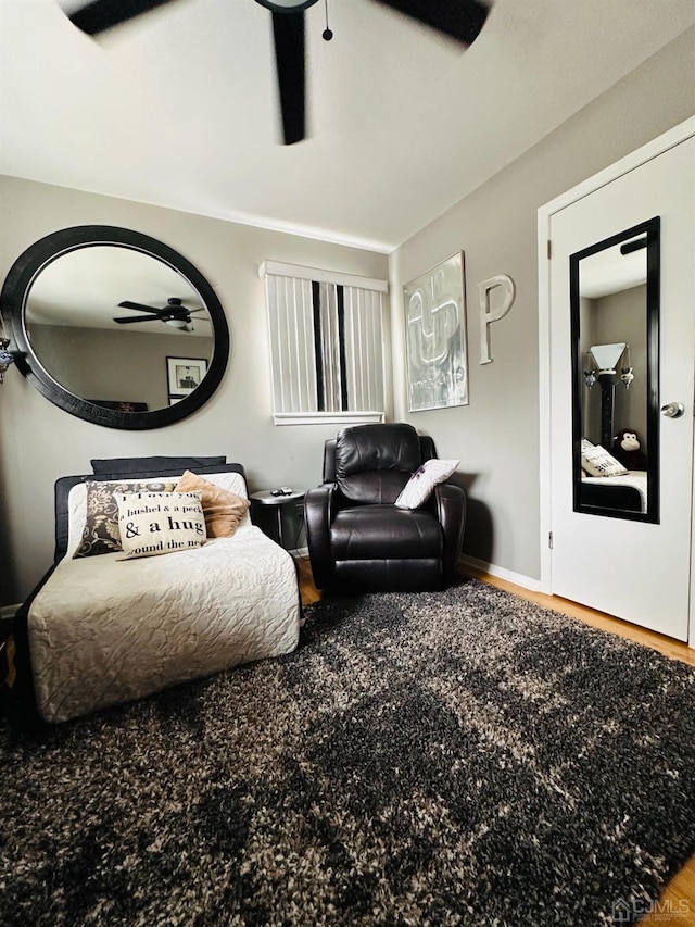
[{"label": "white door frame around the door with the mirror", "polygon": [[[541,591],[553,594],[553,551],[551,531],[553,527],[551,508],[551,221],[555,213],[576,203],[590,193],[610,184],[618,177],[634,171],[647,161],[695,136],[695,116],[664,133],[636,151],[621,158],[593,177],[583,180],[570,190],[542,205],[538,211],[538,271],[539,271],[539,477],[540,477],[540,544],[541,544]],[[695,384],[694,384],[695,389]],[[695,502],[691,512],[691,525],[695,527]],[[691,530],[691,538],[694,537]],[[691,576],[693,554],[691,550]],[[695,647],[695,582],[691,581],[688,643]]]}]

